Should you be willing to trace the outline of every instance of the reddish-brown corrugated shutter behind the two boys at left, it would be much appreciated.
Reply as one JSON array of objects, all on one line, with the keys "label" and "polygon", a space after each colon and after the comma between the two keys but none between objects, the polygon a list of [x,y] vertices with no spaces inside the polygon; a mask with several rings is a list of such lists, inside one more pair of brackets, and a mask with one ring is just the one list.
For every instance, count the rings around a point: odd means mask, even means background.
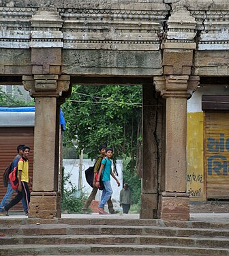
[{"label": "reddish-brown corrugated shutter behind the two boys at left", "polygon": [[[14,156],[16,156],[16,147],[19,144],[28,145],[31,148],[29,154],[29,175],[33,175],[33,141],[34,141],[34,128],[22,127],[22,128],[0,128],[0,200],[3,198],[6,192],[6,188],[3,185],[3,172],[5,167],[12,162]],[[18,203],[13,210],[22,210],[22,203]]]}]

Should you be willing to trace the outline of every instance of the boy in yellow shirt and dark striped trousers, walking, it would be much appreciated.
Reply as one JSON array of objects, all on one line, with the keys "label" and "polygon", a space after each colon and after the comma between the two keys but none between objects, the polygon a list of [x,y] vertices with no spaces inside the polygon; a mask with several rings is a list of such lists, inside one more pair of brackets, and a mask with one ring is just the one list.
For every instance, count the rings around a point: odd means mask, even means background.
[{"label": "boy in yellow shirt and dark striped trousers, walking", "polygon": [[8,216],[8,211],[10,208],[12,208],[14,205],[20,202],[22,198],[25,200],[25,203],[27,205],[27,212],[29,211],[29,202],[30,202],[30,191],[29,191],[29,151],[30,147],[24,146],[22,147],[22,158],[18,161],[18,195],[14,197],[10,201],[10,203],[7,203],[2,210],[5,210],[5,215]]}]

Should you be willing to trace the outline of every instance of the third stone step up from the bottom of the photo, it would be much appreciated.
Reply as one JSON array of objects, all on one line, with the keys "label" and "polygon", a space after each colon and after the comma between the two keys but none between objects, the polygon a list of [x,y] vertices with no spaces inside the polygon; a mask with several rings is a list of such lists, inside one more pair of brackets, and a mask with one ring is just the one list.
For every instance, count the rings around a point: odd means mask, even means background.
[{"label": "third stone step up from the bottom of the photo", "polygon": [[229,237],[229,229],[197,229],[178,227],[144,227],[144,226],[113,226],[113,225],[19,225],[0,227],[0,234],[7,236],[34,235],[138,235],[138,236],[177,236],[177,237]]}]

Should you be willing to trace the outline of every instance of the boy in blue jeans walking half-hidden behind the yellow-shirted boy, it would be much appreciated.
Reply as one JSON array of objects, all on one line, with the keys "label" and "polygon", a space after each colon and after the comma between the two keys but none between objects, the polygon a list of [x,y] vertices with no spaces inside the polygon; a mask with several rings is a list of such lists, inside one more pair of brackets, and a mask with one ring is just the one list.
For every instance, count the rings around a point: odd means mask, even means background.
[{"label": "boy in blue jeans walking half-hidden behind the yellow-shirted boy", "polygon": [[[19,159],[22,158],[22,156],[23,156],[22,148],[23,147],[25,147],[25,145],[22,145],[22,144],[18,145],[18,147],[17,147],[18,154],[15,156],[14,160],[12,161],[11,171],[13,171],[14,167],[16,167],[18,165]],[[16,192],[18,193],[18,190],[16,190]],[[8,180],[6,193],[0,203],[0,214],[5,215],[3,208],[5,205],[7,205],[7,203],[9,203],[13,193],[14,193],[14,190],[10,184],[10,180]],[[27,214],[27,204],[25,203],[25,199],[22,199],[22,205],[23,205],[25,214]]]}]

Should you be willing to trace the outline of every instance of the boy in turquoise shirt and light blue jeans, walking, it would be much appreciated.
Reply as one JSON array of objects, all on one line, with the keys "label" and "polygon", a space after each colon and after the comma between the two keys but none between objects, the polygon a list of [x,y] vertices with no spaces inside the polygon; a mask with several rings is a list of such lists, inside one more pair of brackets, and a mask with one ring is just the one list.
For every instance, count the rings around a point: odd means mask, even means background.
[{"label": "boy in turquoise shirt and light blue jeans, walking", "polygon": [[95,186],[98,188],[100,186],[100,178],[102,179],[104,183],[104,189],[102,192],[102,196],[100,199],[100,205],[99,205],[99,214],[108,214],[108,212],[104,211],[104,205],[107,203],[107,201],[110,199],[113,191],[110,184],[110,175],[116,180],[118,186],[120,186],[119,180],[117,177],[115,177],[115,174],[112,172],[112,162],[110,158],[113,156],[113,150],[112,148],[108,147],[106,149],[106,157],[102,160],[101,167],[99,174],[97,175],[97,180],[95,183]]}]

